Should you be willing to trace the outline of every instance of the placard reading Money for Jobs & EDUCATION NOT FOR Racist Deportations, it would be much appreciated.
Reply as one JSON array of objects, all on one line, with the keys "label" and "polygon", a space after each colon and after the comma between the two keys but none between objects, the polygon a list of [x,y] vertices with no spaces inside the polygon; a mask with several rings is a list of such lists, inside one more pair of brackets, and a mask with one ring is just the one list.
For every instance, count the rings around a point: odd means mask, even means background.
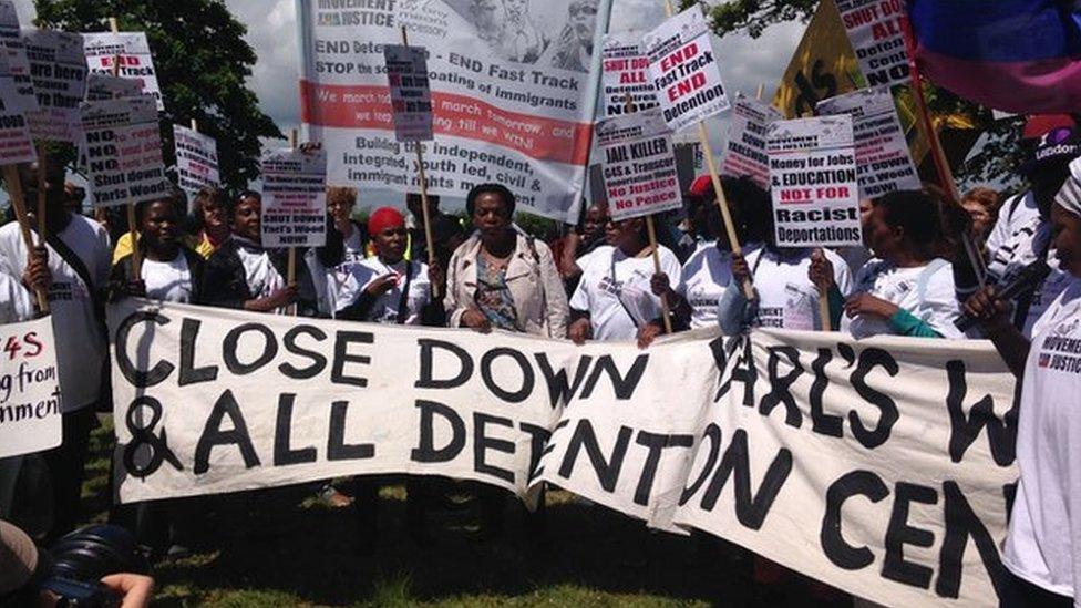
[{"label": "placard reading Money for Jobs & EDUCATION NOT FOR Racist Deportations", "polygon": [[861,245],[852,117],[776,121],[769,133],[776,245]]}]

